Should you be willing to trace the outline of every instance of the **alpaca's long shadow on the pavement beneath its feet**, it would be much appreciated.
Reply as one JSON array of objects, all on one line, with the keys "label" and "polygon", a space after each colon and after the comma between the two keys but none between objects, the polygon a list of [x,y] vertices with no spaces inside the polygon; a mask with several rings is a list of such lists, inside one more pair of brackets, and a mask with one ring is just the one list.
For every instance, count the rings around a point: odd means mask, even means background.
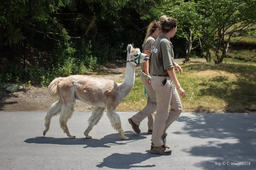
[{"label": "alpaca's long shadow on the pavement beneath its feet", "polygon": [[86,145],[83,148],[110,148],[112,145],[125,145],[126,143],[134,142],[140,139],[145,139],[143,135],[138,135],[133,131],[126,131],[125,136],[130,137],[131,140],[120,139],[119,133],[106,135],[101,139],[86,139],[86,138],[54,138],[54,137],[35,137],[26,139],[26,143],[37,143],[37,144],[55,144],[55,145]]}]

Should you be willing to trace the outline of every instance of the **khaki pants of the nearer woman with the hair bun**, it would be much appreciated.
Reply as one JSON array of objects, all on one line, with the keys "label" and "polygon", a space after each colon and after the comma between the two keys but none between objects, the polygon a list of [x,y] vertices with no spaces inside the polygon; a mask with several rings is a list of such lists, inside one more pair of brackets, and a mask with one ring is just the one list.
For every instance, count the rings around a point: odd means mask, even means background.
[{"label": "khaki pants of the nearer woman with the hair bun", "polygon": [[[162,82],[165,79],[167,79],[166,83],[163,84]],[[161,137],[181,114],[182,105],[179,94],[170,77],[152,76],[151,84],[156,92],[157,103],[151,141],[158,147],[164,145]],[[169,105],[171,106],[170,111]]]}]

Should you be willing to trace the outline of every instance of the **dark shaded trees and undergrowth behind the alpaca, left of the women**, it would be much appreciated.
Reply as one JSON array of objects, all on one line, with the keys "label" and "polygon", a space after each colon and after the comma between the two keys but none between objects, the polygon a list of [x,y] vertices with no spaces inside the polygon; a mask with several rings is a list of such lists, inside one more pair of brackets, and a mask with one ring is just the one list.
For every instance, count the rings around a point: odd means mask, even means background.
[{"label": "dark shaded trees and undergrowth behind the alpaca, left of the women", "polygon": [[18,77],[47,86],[58,76],[86,74],[125,59],[129,43],[141,48],[143,28],[156,19],[151,9],[160,1],[0,2],[1,82]]}]

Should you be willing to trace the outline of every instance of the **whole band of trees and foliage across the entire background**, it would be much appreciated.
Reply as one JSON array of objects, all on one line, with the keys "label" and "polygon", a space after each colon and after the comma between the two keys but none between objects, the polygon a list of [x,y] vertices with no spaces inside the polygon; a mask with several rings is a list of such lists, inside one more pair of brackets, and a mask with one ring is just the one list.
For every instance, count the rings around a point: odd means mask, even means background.
[{"label": "whole band of trees and foliage across the entire background", "polygon": [[255,0],[0,0],[0,84],[18,78],[47,86],[126,59],[127,44],[142,50],[148,24],[163,14],[178,19],[175,45],[200,38],[220,61],[227,36],[255,36],[253,9]]}]

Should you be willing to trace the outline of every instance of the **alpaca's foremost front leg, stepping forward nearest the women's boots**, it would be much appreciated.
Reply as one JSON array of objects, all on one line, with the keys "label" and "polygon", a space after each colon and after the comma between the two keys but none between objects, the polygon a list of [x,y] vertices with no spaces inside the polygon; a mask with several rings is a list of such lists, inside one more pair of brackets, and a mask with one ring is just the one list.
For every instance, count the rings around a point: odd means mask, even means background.
[{"label": "alpaca's foremost front leg, stepping forward nearest the women's boots", "polygon": [[115,109],[108,109],[107,116],[110,119],[111,126],[119,132],[121,139],[129,140],[129,137],[124,135],[123,128],[121,126],[121,119],[118,113],[115,112]]}]

